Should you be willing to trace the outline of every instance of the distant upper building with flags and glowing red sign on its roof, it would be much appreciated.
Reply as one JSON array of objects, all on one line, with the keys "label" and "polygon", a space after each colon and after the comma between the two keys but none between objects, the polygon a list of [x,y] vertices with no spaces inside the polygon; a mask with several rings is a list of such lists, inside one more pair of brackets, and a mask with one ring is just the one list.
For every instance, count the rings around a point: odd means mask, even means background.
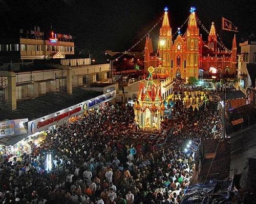
[{"label": "distant upper building with flags and glowing red sign on its roof", "polygon": [[52,31],[51,36],[49,38],[46,36],[44,39],[42,32],[36,30],[30,32],[38,32],[38,36],[30,34],[14,38],[0,38],[0,56],[4,63],[11,60],[16,62],[18,59],[64,59],[65,55],[74,55],[75,46],[71,35],[65,35],[66,38],[63,38],[60,37],[62,34]]}]

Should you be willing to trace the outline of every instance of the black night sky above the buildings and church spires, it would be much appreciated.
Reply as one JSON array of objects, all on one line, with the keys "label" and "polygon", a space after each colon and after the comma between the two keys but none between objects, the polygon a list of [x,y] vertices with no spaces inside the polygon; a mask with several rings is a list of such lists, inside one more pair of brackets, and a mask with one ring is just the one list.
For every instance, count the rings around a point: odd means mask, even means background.
[{"label": "black night sky above the buildings and church spires", "polygon": [[[52,28],[57,33],[70,33],[75,36],[77,50],[91,53],[96,58],[105,50],[125,51],[147,33],[168,7],[173,33],[189,15],[189,8],[196,7],[197,16],[209,30],[215,22],[220,33],[221,16],[229,19],[239,29],[238,41],[256,34],[255,0],[0,0],[1,30],[18,32],[19,28],[42,30]],[[159,26],[151,33],[156,46]],[[185,29],[181,29],[184,33]],[[205,32],[200,28],[206,40]],[[233,33],[224,31],[222,39],[231,47]],[[133,50],[141,51],[144,41]]]}]

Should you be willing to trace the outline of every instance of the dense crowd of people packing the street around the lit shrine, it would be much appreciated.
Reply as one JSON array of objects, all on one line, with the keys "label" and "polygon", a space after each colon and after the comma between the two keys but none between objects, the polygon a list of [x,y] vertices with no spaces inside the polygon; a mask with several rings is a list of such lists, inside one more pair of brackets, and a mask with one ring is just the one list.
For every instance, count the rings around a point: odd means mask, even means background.
[{"label": "dense crowd of people packing the street around the lit shrine", "polygon": [[109,103],[63,123],[31,153],[12,160],[5,155],[0,202],[180,203],[196,168],[195,149],[185,151],[185,144],[216,137],[212,129],[221,128],[218,95],[208,97],[205,108],[196,111],[176,104],[161,133],[135,132],[133,107],[125,104]]}]

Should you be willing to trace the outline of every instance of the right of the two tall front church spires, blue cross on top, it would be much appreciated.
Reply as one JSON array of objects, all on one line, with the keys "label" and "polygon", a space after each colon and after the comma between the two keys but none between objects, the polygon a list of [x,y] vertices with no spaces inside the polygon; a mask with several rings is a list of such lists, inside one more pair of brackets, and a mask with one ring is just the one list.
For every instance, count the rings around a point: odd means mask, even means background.
[{"label": "right of the two tall front church spires, blue cross on top", "polygon": [[199,28],[197,27],[195,8],[190,8],[186,34],[187,77],[198,78],[199,72]]}]

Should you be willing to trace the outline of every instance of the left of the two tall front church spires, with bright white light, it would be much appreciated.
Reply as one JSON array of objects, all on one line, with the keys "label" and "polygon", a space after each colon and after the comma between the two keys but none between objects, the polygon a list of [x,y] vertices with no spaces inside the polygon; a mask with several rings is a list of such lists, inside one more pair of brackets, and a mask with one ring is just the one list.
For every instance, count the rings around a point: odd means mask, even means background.
[{"label": "left of the two tall front church spires, with bright white light", "polygon": [[172,28],[169,25],[167,8],[164,9],[164,17],[162,27],[160,28],[158,51],[160,56],[160,62],[162,62],[163,67],[170,68],[170,51],[173,48],[172,42]]}]

